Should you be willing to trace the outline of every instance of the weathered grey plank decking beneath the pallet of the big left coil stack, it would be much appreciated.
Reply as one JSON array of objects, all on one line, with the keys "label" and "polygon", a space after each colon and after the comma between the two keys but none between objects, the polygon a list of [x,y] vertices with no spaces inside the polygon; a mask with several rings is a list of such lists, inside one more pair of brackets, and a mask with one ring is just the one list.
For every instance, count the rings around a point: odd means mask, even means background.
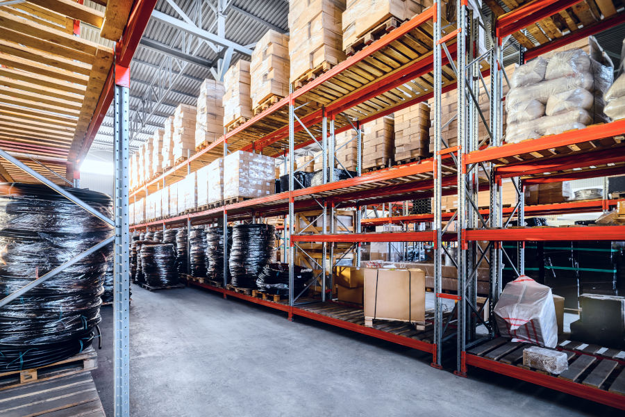
[{"label": "weathered grey plank decking beneath the pallet of the big left coil stack", "polygon": [[2,392],[0,417],[105,417],[90,372],[15,386]]}]

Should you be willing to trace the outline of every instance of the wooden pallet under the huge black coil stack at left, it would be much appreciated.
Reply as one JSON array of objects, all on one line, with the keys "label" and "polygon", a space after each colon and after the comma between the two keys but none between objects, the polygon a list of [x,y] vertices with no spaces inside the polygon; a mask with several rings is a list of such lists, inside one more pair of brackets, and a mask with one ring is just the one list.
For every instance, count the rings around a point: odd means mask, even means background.
[{"label": "wooden pallet under the huge black coil stack at left", "polygon": [[94,348],[90,346],[83,352],[63,361],[40,366],[38,368],[10,370],[0,373],[0,391],[15,386],[31,384],[33,382],[74,375],[97,367],[98,354]]}]

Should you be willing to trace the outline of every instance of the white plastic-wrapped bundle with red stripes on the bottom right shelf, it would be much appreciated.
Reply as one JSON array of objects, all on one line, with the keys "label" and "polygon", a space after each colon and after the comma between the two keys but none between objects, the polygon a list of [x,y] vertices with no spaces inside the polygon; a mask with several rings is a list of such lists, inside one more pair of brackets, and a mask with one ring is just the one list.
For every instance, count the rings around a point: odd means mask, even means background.
[{"label": "white plastic-wrapped bundle with red stripes on the bottom right shelf", "polygon": [[556,306],[548,286],[522,275],[506,284],[493,311],[501,336],[556,347]]}]

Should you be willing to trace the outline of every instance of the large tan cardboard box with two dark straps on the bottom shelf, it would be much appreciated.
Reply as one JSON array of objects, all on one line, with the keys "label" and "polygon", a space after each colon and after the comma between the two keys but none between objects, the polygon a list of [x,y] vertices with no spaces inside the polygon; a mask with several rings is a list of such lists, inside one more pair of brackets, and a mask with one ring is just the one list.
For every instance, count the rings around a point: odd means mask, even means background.
[{"label": "large tan cardboard box with two dark straps on the bottom shelf", "polygon": [[365,325],[374,319],[425,321],[425,272],[365,268]]}]

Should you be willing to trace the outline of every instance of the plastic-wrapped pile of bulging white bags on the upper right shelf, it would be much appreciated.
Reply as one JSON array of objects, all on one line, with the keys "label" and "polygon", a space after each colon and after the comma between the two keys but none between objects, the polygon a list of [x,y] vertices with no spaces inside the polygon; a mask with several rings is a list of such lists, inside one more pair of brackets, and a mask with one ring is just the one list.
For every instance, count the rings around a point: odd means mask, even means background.
[{"label": "plastic-wrapped pile of bulging white bags on the upper right shelf", "polygon": [[517,67],[506,96],[506,142],[605,122],[602,97],[611,83],[612,67],[603,63],[611,65],[599,45],[590,39],[590,56],[581,49],[572,49]]}]

